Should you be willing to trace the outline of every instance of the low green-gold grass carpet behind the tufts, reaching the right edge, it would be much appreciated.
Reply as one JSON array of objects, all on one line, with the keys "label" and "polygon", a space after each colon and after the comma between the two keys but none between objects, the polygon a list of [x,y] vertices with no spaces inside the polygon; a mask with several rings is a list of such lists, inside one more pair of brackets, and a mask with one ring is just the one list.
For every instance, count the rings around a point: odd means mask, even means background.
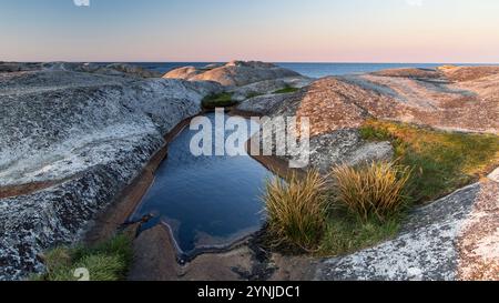
[{"label": "low green-gold grass carpet behind the tufts, reaching the right edge", "polygon": [[445,196],[499,164],[499,137],[437,131],[386,121],[368,121],[364,139],[390,141],[401,165],[413,169],[409,193],[417,203]]}]

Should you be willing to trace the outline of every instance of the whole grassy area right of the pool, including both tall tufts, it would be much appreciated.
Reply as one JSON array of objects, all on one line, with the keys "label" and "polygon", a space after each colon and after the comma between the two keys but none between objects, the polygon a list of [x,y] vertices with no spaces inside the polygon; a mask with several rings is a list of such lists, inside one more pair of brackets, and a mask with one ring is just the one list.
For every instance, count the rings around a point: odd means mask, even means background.
[{"label": "whole grassy area right of the pool, including both tall tufts", "polygon": [[[324,180],[267,185],[265,201],[267,209],[269,203],[274,208],[274,232],[269,234],[274,241],[301,243],[317,256],[375,246],[398,234],[415,203],[445,196],[499,164],[499,137],[495,134],[445,132],[374,120],[360,132],[366,140],[391,142],[395,162],[334,168],[327,186],[323,186]],[[281,251],[296,252],[286,249]]]}]

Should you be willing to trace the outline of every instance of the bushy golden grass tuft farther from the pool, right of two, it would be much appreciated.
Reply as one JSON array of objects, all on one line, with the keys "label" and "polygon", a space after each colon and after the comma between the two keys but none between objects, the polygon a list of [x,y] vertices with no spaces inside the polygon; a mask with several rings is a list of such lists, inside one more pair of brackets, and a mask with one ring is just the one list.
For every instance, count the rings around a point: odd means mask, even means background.
[{"label": "bushy golden grass tuft farther from the pool, right of two", "polygon": [[407,201],[405,185],[408,168],[389,162],[374,162],[359,168],[333,169],[336,201],[364,222],[375,216],[385,221],[398,213]]}]

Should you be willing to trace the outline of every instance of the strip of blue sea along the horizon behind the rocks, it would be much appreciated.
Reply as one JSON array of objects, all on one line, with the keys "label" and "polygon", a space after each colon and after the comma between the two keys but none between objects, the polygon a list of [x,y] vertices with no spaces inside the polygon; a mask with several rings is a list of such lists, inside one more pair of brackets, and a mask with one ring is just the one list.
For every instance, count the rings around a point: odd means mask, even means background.
[{"label": "strip of blue sea along the horizon behind the rocks", "polygon": [[[141,65],[145,69],[152,71],[159,71],[166,73],[176,68],[182,67],[205,67],[213,62],[164,62],[164,63],[138,63],[133,64]],[[422,69],[435,69],[437,67],[444,65],[444,63],[276,63],[283,68],[294,70],[303,75],[312,78],[322,78],[327,75],[342,75],[342,74],[353,74],[353,73],[366,73],[375,72],[385,69],[397,69],[397,68],[422,68]],[[468,65],[456,63],[456,65]],[[477,65],[477,64],[473,64]]]}]

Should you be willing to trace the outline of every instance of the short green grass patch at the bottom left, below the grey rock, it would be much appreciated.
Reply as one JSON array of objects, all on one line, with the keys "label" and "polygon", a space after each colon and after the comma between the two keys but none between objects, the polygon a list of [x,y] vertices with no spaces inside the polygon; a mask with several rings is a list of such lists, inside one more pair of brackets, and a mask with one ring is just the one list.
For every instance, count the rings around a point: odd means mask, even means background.
[{"label": "short green grass patch at the bottom left, below the grey rock", "polygon": [[43,256],[44,274],[33,276],[35,281],[78,281],[78,269],[86,269],[91,281],[122,281],[132,263],[132,240],[116,235],[92,248],[59,246]]}]

